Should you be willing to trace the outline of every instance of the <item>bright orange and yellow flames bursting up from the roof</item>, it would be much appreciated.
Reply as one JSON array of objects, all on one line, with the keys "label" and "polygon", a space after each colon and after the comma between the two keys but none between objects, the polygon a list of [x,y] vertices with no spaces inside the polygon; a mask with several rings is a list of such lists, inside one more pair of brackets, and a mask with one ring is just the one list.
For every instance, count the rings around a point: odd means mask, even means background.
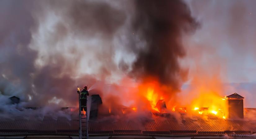
[{"label": "bright orange and yellow flames bursting up from the roof", "polygon": [[[173,95],[171,89],[167,86],[161,85],[157,80],[152,78],[145,80],[138,84],[138,97],[140,103],[130,107],[130,110],[137,112],[139,110],[146,109],[150,111],[161,112],[156,104],[159,100],[164,99],[167,109],[173,112],[190,113],[196,116],[212,115],[219,118],[226,119],[227,116],[227,102],[226,98],[221,92],[221,87],[218,83],[211,82],[207,85],[201,83],[203,81],[195,82],[194,90],[191,89],[186,97],[178,98]],[[142,98],[142,99],[141,99]],[[176,101],[175,101],[176,100]],[[180,101],[177,101],[180,100]],[[143,103],[143,106],[141,105]],[[181,102],[188,102],[188,104]],[[135,106],[135,107],[134,107]],[[109,109],[111,113],[111,109]],[[123,112],[123,113],[126,113]]]}]

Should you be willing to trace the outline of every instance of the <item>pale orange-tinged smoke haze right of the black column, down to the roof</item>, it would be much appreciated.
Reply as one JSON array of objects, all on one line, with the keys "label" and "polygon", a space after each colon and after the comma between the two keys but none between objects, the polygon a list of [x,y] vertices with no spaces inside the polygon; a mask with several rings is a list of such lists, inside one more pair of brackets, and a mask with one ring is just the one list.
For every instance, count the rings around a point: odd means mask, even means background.
[{"label": "pale orange-tinged smoke haze right of the black column, down to the roof", "polygon": [[252,39],[255,2],[188,0],[186,3],[201,23],[194,35],[183,40],[187,55],[181,63],[190,67],[187,83],[198,88],[188,89],[192,92],[190,99],[200,94],[200,87],[207,86],[207,90],[201,89],[202,93],[212,91],[223,97],[236,92],[245,97],[245,107],[255,107],[255,98],[250,97],[255,82],[256,51]]}]

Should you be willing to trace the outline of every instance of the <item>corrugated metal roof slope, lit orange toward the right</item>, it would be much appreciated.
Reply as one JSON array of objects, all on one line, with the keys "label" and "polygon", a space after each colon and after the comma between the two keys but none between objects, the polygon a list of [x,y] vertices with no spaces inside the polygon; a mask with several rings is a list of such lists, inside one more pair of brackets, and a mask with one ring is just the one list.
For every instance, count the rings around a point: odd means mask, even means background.
[{"label": "corrugated metal roof slope, lit orange toward the right", "polygon": [[[245,117],[256,111],[255,108],[245,109]],[[17,134],[77,134],[79,120],[59,117],[43,117],[42,120],[26,120],[23,118],[0,118],[0,133]],[[141,120],[104,120],[90,121],[89,133],[97,134],[250,134],[256,132],[256,120],[225,120],[214,115],[208,119],[194,116],[158,116]]]}]

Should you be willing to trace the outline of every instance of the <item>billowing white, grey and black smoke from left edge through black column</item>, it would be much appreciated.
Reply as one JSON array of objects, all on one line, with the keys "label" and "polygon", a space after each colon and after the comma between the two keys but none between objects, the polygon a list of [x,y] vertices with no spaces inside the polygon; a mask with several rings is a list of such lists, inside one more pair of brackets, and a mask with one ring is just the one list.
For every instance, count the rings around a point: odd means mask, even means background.
[{"label": "billowing white, grey and black smoke from left edge through black column", "polygon": [[94,84],[103,100],[114,94],[131,105],[138,99],[130,95],[138,92],[132,79],[156,78],[168,86],[164,93],[186,80],[182,36],[198,24],[182,1],[0,5],[0,91],[20,97],[23,107],[77,106],[76,86]]}]

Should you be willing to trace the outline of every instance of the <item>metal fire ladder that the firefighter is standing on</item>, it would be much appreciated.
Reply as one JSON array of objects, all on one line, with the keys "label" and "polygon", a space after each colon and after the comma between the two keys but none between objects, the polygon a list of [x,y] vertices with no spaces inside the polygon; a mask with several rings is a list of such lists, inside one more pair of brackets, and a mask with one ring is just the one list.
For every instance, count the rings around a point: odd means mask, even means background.
[{"label": "metal fire ladder that the firefighter is standing on", "polygon": [[87,98],[86,98],[86,111],[82,111],[81,110],[81,102],[80,102],[80,98],[81,98],[81,92],[80,89],[83,88],[79,88],[77,86],[77,93],[79,94],[78,97],[78,101],[79,101],[79,139],[89,139],[89,135],[88,135],[88,119],[87,119]]}]

